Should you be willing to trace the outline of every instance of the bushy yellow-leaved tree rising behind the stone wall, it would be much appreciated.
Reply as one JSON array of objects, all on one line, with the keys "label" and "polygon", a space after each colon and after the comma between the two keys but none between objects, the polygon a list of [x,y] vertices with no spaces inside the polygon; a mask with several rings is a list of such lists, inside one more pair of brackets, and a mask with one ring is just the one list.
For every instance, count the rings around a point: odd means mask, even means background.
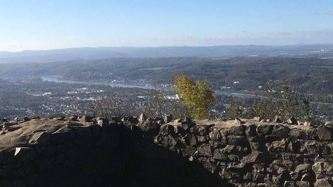
[{"label": "bushy yellow-leaved tree rising behind the stone wall", "polygon": [[175,76],[175,90],[182,98],[185,115],[196,119],[210,118],[214,105],[212,85],[209,80],[194,80],[185,75]]}]

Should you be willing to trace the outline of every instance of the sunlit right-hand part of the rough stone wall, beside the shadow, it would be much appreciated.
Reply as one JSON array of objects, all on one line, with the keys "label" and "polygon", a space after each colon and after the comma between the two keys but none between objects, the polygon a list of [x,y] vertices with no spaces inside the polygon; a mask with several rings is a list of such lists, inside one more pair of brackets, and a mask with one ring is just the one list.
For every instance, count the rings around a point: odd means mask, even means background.
[{"label": "sunlit right-hand part of the rough stone wall, beside the shadow", "polygon": [[333,186],[333,128],[282,124],[163,125],[155,143],[174,150],[232,186]]}]

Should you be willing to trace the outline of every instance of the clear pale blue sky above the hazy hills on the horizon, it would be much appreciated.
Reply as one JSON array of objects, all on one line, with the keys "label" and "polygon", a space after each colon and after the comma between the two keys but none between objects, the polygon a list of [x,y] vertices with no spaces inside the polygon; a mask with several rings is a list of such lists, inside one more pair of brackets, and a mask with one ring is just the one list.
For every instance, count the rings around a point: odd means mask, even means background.
[{"label": "clear pale blue sky above the hazy hills on the horizon", "polygon": [[0,51],[333,43],[333,0],[0,0]]}]

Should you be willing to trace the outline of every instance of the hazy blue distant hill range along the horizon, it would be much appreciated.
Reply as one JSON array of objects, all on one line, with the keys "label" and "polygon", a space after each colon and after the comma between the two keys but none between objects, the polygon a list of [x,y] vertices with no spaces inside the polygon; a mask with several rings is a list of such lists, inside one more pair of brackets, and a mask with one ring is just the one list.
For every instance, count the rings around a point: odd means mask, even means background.
[{"label": "hazy blue distant hill range along the horizon", "polygon": [[[0,52],[0,63],[40,63],[70,60],[93,60],[112,57],[213,57],[249,55],[331,56],[333,44],[299,44],[290,46],[211,46],[211,47],[99,47],[60,50]],[[330,54],[330,55],[328,55]]]}]

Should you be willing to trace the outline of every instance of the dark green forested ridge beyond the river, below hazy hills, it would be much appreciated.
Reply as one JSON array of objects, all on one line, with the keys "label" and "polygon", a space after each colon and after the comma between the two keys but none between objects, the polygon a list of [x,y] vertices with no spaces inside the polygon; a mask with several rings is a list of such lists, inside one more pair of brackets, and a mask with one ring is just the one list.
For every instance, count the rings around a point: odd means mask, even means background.
[{"label": "dark green forested ridge beyond the river, below hazy hills", "polygon": [[[0,64],[0,78],[60,75],[65,80],[173,83],[184,74],[210,79],[214,89],[258,90],[267,80],[292,80],[303,93],[333,94],[333,60],[299,57],[108,58],[55,63]],[[236,83],[235,83],[236,82]]]}]

